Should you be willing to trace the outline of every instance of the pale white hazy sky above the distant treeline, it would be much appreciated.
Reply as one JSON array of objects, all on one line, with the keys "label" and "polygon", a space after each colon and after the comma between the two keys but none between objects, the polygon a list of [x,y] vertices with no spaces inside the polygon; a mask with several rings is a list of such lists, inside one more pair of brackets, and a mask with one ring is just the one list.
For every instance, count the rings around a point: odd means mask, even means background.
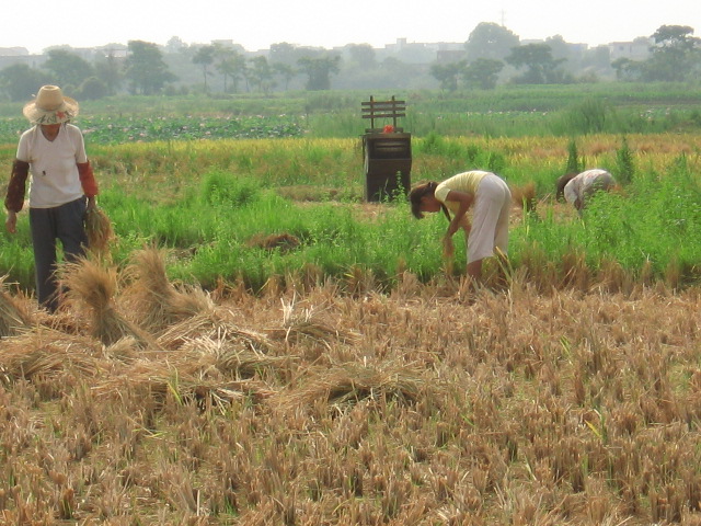
[{"label": "pale white hazy sky above the distant treeline", "polygon": [[480,22],[521,39],[562,35],[591,46],[689,25],[701,36],[699,0],[51,0],[4,1],[0,47],[41,53],[131,39],[186,44],[231,39],[246,50],[271,44],[321,46],[466,42]]}]

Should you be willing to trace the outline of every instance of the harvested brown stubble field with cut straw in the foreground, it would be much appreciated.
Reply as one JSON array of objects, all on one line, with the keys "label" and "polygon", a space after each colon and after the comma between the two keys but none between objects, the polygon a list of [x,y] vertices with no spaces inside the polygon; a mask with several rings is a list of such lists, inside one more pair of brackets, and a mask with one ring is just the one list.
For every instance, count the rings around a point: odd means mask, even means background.
[{"label": "harvested brown stubble field with cut straw in the foreground", "polygon": [[697,288],[130,278],[90,300],[146,339],[14,298],[3,524],[701,524]]}]

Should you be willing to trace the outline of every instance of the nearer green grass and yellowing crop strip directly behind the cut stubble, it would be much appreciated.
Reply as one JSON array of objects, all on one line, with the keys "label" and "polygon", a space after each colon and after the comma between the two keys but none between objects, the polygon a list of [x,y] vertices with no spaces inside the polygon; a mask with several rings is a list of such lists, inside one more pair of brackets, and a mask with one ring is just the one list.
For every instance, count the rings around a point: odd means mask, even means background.
[{"label": "nearer green grass and yellowing crop strip directly behind the cut stubble", "polygon": [[[364,203],[359,139],[246,139],[141,142],[90,147],[102,186],[101,207],[114,222],[113,258],[145,243],[174,250],[170,271],[206,287],[242,281],[253,290],[272,276],[312,274],[342,278],[354,268],[391,288],[403,271],[429,281],[444,272],[437,240],[440,216],[415,221],[403,199]],[[564,139],[468,139],[429,136],[413,141],[412,179],[440,180],[481,168],[501,173],[513,190],[532,184],[538,205],[515,203],[510,260],[535,282],[566,282],[567,261],[582,260],[591,279],[620,265],[673,286],[698,278],[701,254],[700,145],[694,135],[629,136],[632,181],[600,196],[583,219],[553,202],[555,179],[567,161]],[[587,167],[614,174],[621,138],[578,141]],[[630,168],[630,167],[629,167]],[[11,281],[32,288],[28,224],[2,233],[0,265]],[[294,250],[262,240],[289,236]],[[459,240],[459,242],[461,242]],[[460,247],[460,244],[459,244]],[[455,272],[463,271],[457,251]]]}]

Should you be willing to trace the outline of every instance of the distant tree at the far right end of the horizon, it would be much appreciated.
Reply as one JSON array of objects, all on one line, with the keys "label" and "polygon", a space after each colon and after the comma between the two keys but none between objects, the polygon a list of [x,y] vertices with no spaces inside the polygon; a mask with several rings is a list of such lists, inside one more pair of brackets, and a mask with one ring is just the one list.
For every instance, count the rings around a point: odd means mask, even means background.
[{"label": "distant tree at the far right end of the horizon", "polygon": [[691,77],[701,59],[701,39],[688,25],[662,25],[652,35],[655,45],[646,60],[645,80],[682,81]]}]

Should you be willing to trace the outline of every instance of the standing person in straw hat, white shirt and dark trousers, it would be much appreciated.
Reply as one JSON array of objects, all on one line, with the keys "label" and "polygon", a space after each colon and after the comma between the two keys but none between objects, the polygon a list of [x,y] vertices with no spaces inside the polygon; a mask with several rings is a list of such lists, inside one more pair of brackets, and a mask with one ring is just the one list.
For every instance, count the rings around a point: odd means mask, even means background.
[{"label": "standing person in straw hat, white shirt and dark trousers", "polygon": [[30,228],[34,248],[37,299],[50,312],[58,308],[56,240],[67,261],[84,254],[88,237],[85,211],[95,208],[97,184],[85,155],[80,129],[70,124],[78,103],[57,85],[44,85],[25,104],[24,116],[34,126],[20,137],[4,199],[10,233],[16,230],[30,182]]}]

